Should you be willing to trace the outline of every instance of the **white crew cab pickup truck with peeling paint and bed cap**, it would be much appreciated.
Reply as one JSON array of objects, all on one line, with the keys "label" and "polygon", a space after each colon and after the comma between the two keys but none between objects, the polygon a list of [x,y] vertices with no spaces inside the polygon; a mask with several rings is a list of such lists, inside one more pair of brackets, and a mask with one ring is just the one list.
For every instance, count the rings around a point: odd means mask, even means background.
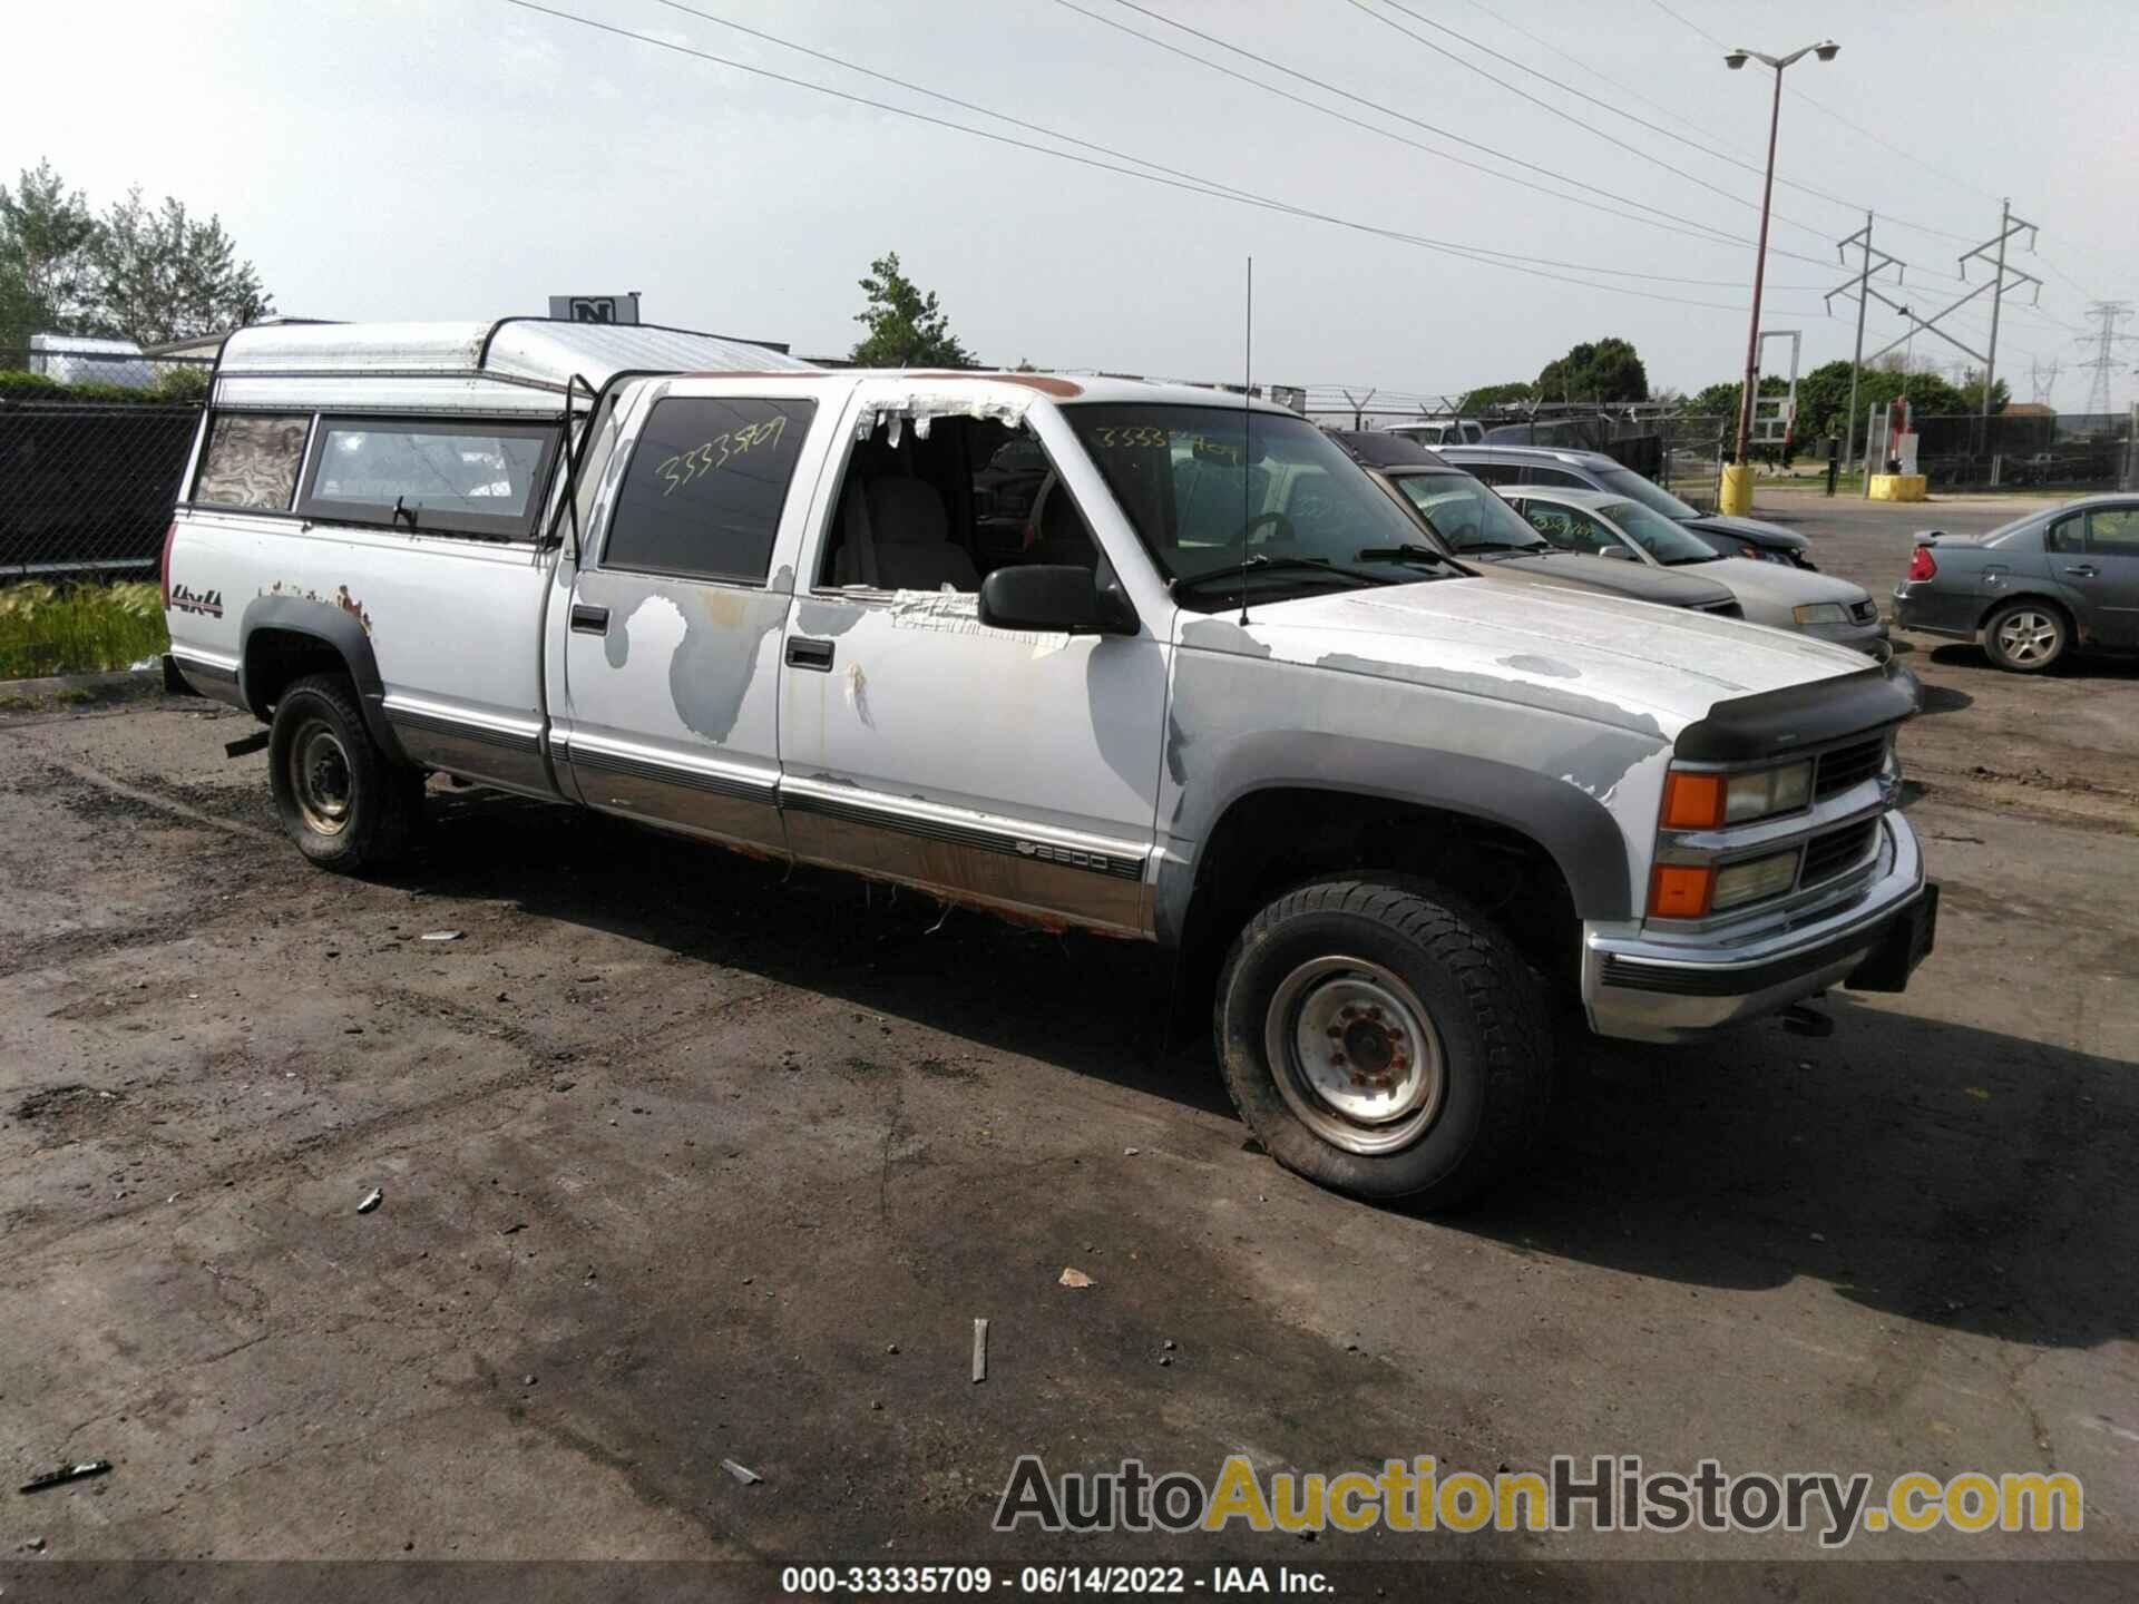
[{"label": "white crew cab pickup truck with peeling paint and bed cap", "polygon": [[1504,1172],[1564,1007],[1677,1042],[1932,943],[1882,667],[1476,577],[1211,389],[244,329],[165,597],[314,864],[443,774],[1155,943],[1262,1144],[1367,1198]]}]

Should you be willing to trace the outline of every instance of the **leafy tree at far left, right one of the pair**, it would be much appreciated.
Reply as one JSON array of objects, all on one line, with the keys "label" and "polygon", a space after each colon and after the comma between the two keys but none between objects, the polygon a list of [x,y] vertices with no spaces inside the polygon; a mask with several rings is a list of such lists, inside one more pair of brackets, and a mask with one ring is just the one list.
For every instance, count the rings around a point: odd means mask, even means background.
[{"label": "leafy tree at far left, right one of the pair", "polygon": [[96,323],[141,344],[216,334],[274,312],[250,261],[222,233],[220,218],[199,222],[184,201],[150,210],[133,188],[96,227],[90,250]]}]

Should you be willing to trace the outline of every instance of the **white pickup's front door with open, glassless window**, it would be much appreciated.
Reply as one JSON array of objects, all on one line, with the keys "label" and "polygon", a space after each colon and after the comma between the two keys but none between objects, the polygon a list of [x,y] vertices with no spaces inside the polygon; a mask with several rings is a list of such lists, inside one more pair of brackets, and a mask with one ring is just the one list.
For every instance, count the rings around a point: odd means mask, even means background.
[{"label": "white pickup's front door with open, glassless window", "polygon": [[[796,586],[781,682],[789,847],[1012,915],[1142,935],[1168,646],[1149,627],[982,624],[982,569],[1001,554],[978,518],[952,518],[975,498],[950,475],[992,458],[965,451],[960,419],[933,421],[924,434],[894,417],[853,447],[815,586]],[[1018,445],[1040,451],[1029,432]],[[873,562],[841,556],[860,541]],[[1052,473],[1018,554],[1035,558],[1102,562]]]}]

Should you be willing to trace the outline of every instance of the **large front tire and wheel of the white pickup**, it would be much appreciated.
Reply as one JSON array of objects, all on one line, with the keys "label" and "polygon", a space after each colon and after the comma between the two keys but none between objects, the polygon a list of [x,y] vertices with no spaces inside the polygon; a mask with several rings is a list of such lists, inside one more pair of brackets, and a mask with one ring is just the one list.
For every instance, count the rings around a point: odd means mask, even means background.
[{"label": "large front tire and wheel of the white pickup", "polygon": [[1551,1020],[1484,917],[1399,879],[1333,879],[1241,930],[1217,988],[1234,1108],[1288,1170],[1448,1208],[1542,1123]]}]

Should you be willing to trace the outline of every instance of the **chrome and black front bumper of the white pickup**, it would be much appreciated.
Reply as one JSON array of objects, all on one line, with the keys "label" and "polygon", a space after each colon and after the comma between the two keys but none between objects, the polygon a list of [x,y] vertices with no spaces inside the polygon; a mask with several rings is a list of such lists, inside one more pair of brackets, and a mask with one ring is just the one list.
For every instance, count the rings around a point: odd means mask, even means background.
[{"label": "chrome and black front bumper of the white pickup", "polygon": [[1932,950],[1938,885],[1923,877],[1917,832],[1880,819],[1872,877],[1825,905],[1743,937],[1651,937],[1583,928],[1583,1005],[1600,1035],[1686,1042],[1773,1014],[1829,986],[1902,990]]}]

